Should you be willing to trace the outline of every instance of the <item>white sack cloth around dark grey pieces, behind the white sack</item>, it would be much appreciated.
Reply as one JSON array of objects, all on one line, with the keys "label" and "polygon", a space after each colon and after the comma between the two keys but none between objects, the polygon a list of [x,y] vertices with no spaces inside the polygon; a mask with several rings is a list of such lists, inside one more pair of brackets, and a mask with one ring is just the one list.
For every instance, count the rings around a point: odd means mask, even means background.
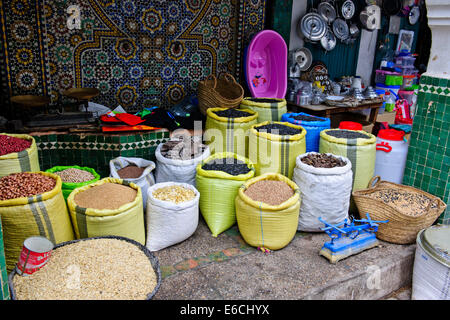
[{"label": "white sack cloth around dark grey pieces, behind the white sack", "polygon": [[162,143],[158,145],[155,151],[156,156],[156,183],[161,182],[181,182],[188,183],[195,187],[195,175],[197,173],[197,164],[210,156],[209,147],[206,146],[203,153],[190,160],[173,160],[164,157],[161,154]]}]

